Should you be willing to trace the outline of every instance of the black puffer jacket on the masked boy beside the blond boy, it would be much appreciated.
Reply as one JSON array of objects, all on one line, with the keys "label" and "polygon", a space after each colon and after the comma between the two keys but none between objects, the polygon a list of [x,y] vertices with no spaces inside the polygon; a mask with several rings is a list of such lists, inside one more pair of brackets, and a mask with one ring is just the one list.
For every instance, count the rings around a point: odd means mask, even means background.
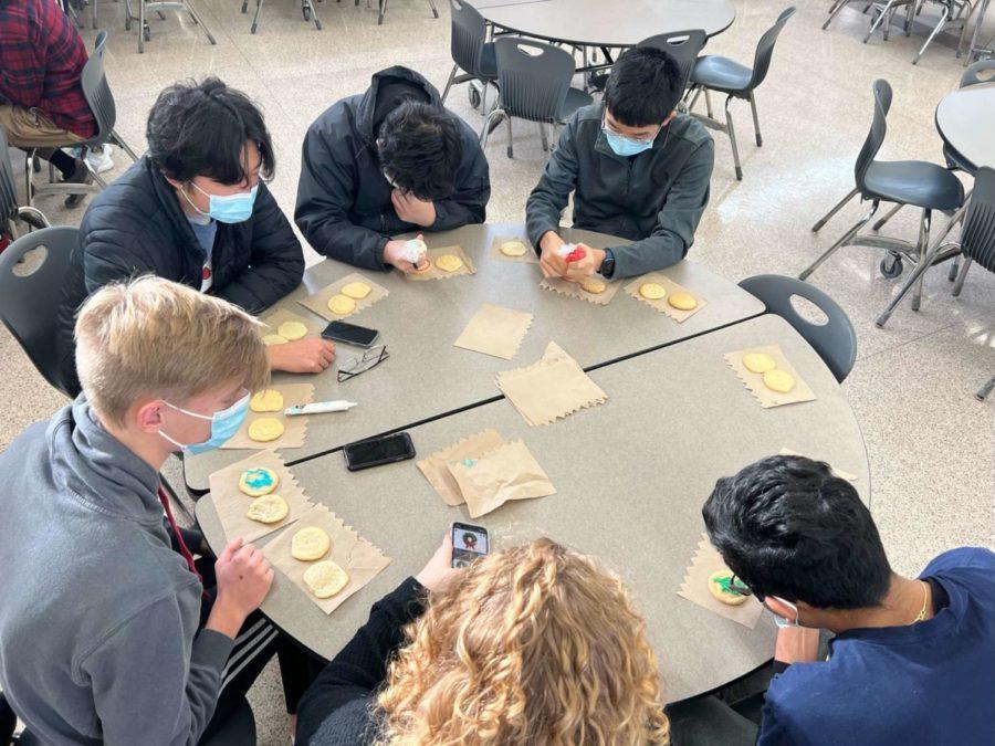
[{"label": "black puffer jacket on the masked boy beside the blond boy", "polygon": [[[218,223],[211,258],[210,293],[252,314],[290,293],[304,275],[301,242],[263,182],[249,220]],[[59,308],[61,372],[70,392],[78,391],[73,324],[91,293],[149,273],[199,290],[203,261],[176,192],[148,157],[97,195],[83,216]]]}]

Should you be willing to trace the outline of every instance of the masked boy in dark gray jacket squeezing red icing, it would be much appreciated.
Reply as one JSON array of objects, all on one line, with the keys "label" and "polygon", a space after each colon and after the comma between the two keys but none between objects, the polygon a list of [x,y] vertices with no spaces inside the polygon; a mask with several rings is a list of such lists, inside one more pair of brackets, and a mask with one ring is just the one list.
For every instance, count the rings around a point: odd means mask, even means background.
[{"label": "masked boy in dark gray jacket squeezing red icing", "polygon": [[[579,109],[525,206],[528,238],[547,277],[580,282],[662,270],[681,261],[709,202],[714,148],[704,126],[674,109],[680,69],[666,52],[633,48],[611,69],[601,103]],[[574,228],[627,243],[559,251],[559,218],[574,196]]]}]

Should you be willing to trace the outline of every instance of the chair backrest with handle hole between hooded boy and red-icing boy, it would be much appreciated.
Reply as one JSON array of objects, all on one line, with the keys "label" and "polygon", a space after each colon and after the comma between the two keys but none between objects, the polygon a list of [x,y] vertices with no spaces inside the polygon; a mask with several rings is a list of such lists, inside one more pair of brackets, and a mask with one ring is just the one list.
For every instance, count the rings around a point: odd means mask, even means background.
[{"label": "chair backrest with handle hole between hooded boy and red-icing boy", "polygon": [[494,48],[501,108],[520,119],[556,122],[574,77],[569,52],[521,36],[501,36]]}]

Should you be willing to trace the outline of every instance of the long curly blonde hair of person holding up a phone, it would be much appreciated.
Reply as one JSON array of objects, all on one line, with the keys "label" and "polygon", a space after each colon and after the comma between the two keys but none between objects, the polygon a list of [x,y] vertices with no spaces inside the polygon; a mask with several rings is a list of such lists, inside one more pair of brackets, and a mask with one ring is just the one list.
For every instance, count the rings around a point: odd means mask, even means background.
[{"label": "long curly blonde hair of person holding up a phone", "polygon": [[657,659],[629,592],[547,538],[475,561],[406,630],[381,744],[668,744]]}]

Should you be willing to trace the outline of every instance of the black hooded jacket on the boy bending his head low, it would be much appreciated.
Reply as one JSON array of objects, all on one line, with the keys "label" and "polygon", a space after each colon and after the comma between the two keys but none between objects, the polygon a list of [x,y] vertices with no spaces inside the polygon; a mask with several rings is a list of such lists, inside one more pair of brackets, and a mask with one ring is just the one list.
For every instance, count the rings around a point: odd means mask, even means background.
[{"label": "black hooded jacket on the boy bending his head low", "polygon": [[[439,92],[407,67],[389,67],[373,76],[369,90],[333,104],[307,129],[294,221],[320,254],[369,270],[387,270],[388,237],[418,230],[402,221],[390,202],[376,148],[375,115],[385,88],[409,87],[417,97],[442,106]],[[380,111],[383,113],[383,105]],[[455,192],[436,200],[436,222],[427,231],[482,223],[491,196],[488,160],[470,126],[452,115],[462,134],[463,158]]]}]

